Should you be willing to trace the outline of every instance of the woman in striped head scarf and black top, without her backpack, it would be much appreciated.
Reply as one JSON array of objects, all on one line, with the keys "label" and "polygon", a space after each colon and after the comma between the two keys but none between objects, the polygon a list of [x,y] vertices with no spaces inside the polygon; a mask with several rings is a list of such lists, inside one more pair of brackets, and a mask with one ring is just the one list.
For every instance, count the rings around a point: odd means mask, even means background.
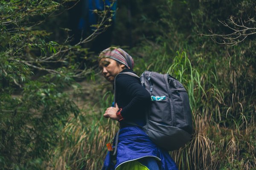
[{"label": "woman in striped head scarf and black top, without her backpack", "polygon": [[110,47],[99,55],[103,76],[116,85],[115,107],[108,108],[103,116],[120,123],[116,154],[108,152],[102,170],[177,170],[168,151],[157,147],[140,128],[145,125],[151,96],[140,85],[139,78],[120,74],[135,74],[133,67],[132,57],[121,48]]}]

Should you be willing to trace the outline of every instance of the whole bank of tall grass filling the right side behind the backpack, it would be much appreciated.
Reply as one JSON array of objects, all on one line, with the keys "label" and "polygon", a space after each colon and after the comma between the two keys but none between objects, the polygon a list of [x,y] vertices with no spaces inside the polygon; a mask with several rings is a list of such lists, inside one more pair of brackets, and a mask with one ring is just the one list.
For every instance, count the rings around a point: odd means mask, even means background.
[{"label": "whole bank of tall grass filling the right side behind the backpack", "polygon": [[[142,66],[168,72],[183,83],[189,94],[194,133],[186,147],[171,153],[178,167],[182,170],[253,169],[256,166],[255,89],[248,87],[255,79],[247,71],[244,56],[234,50],[233,58],[212,58],[209,63],[193,66],[184,51],[172,57],[164,53],[167,51],[164,45],[154,45],[151,49],[145,46],[141,50],[148,51],[143,56],[148,54],[148,60]],[[190,58],[197,58],[193,54],[190,51]],[[170,65],[168,69],[166,65]]]}]

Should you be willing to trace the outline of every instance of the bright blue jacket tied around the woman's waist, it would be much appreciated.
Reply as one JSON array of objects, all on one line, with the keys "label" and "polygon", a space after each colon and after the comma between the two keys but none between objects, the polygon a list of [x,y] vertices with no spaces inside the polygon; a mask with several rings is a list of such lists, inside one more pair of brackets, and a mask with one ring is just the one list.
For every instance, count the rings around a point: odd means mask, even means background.
[{"label": "bright blue jacket tied around the woman's waist", "polygon": [[[114,170],[126,161],[140,159],[145,156],[154,156],[158,160],[160,159],[159,162],[157,161],[160,170],[178,170],[168,151],[157,147],[145,132],[136,126],[127,126],[120,129],[116,157],[108,152],[102,170]],[[116,164],[113,163],[115,158]]]}]

